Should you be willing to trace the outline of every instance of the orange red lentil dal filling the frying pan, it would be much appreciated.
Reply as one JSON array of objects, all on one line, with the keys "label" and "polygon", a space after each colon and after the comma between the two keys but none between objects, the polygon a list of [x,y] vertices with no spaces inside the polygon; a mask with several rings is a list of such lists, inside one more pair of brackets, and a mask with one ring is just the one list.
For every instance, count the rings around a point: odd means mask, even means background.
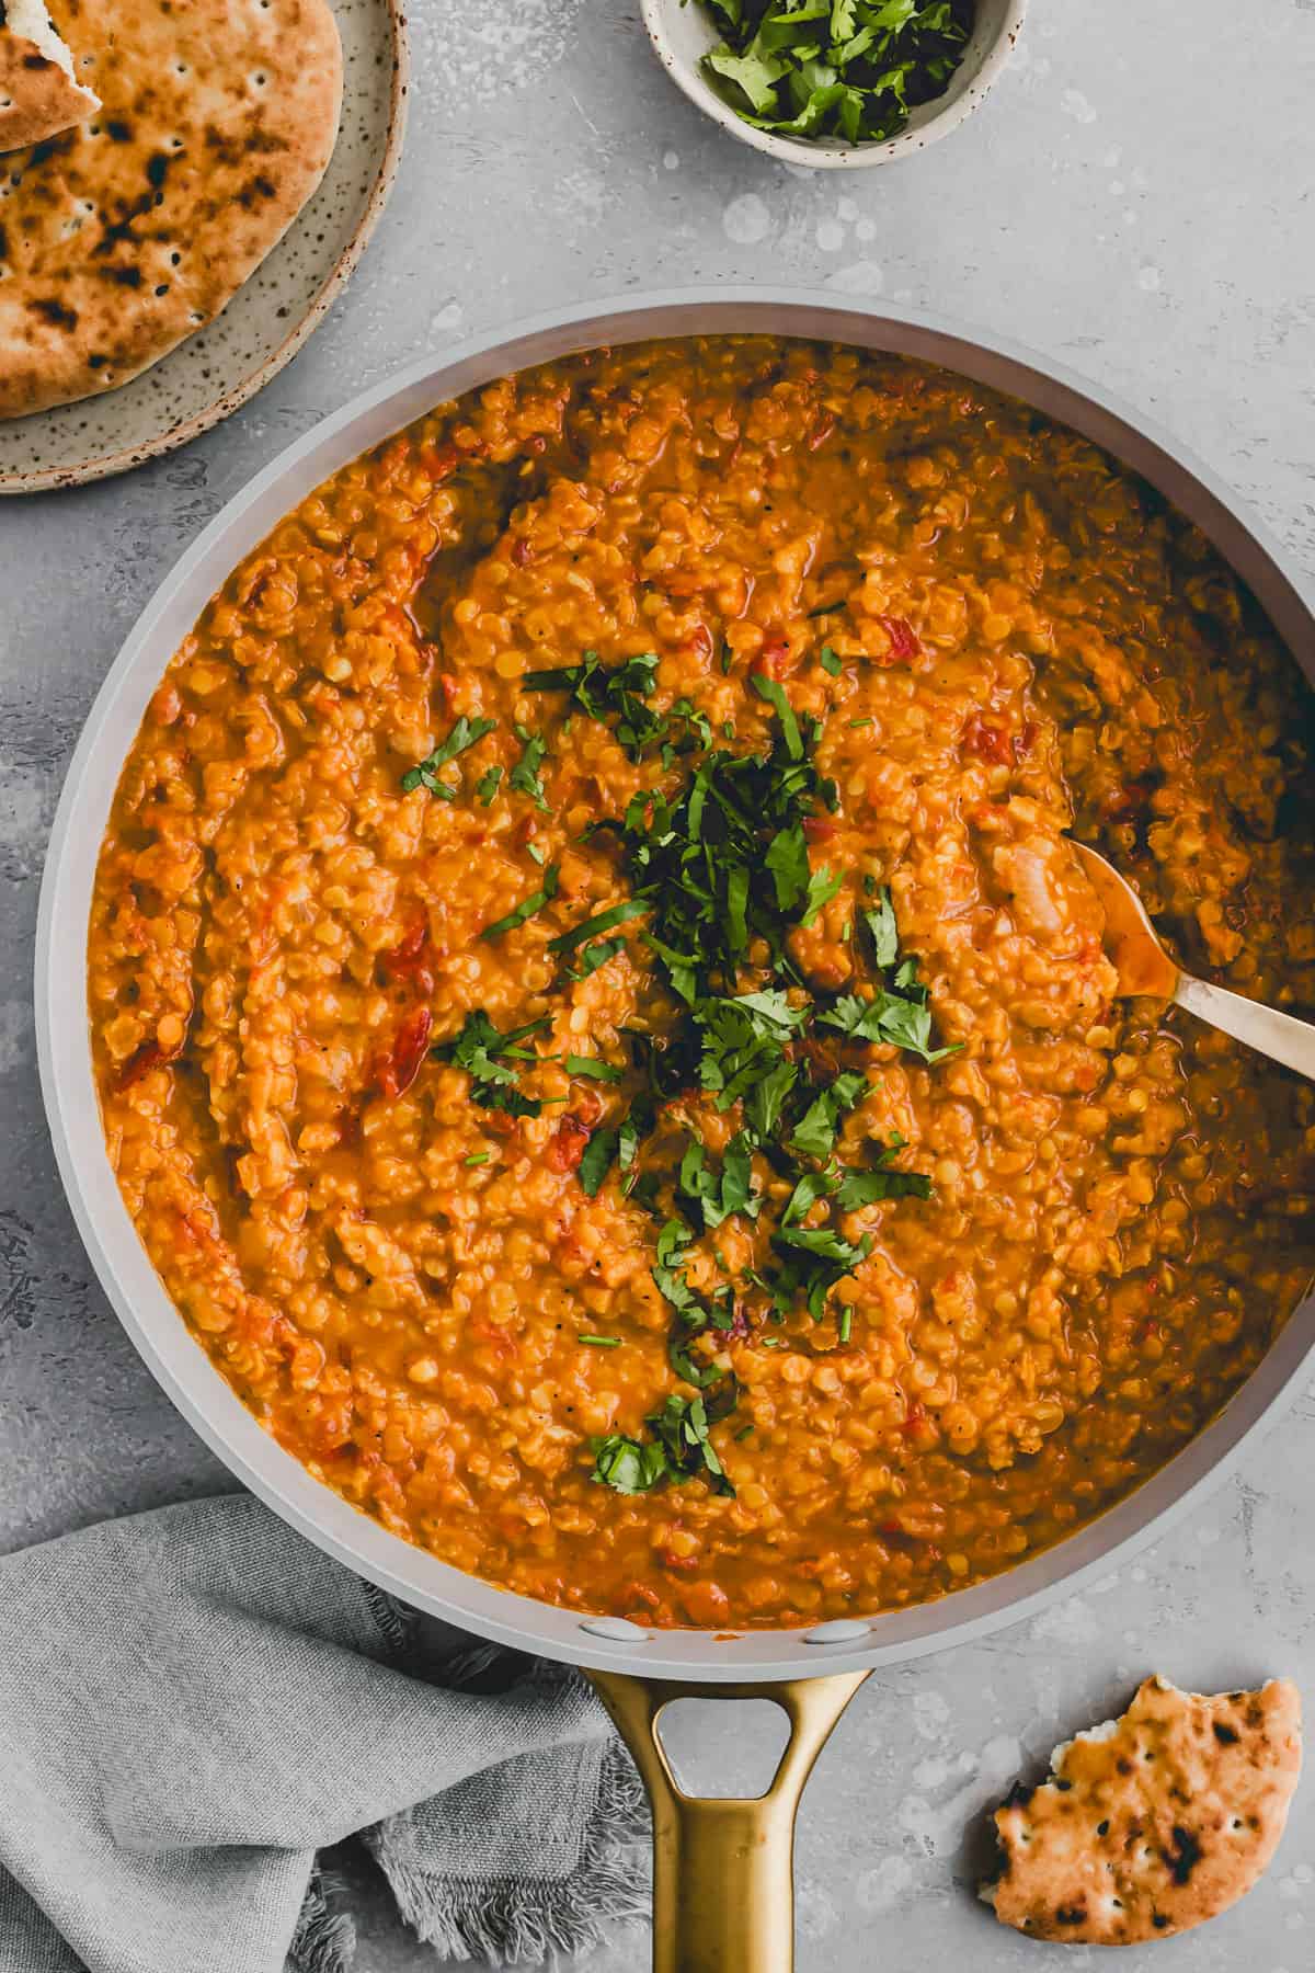
[{"label": "orange red lentil dal filling the frying pan", "polygon": [[[580,981],[548,941],[627,896],[588,825],[690,769],[519,685],[586,649],[657,653],[653,702],[688,694],[737,748],[773,728],[755,671],[822,722],[838,807],[810,854],[844,884],[793,957],[848,990],[879,876],[962,1044],[860,1052],[842,1162],[899,1133],[933,1196],[848,1215],[871,1251],[820,1322],[737,1304],[741,1395],[712,1428],[733,1496],[591,1480],[591,1438],[690,1391],[653,1217],[615,1170],[580,1184],[625,1079],[564,1060],[625,1065],[623,1030],[672,1006],[641,923]],[[442,769],[453,799],[404,791],[461,714],[497,726]],[[517,726],[546,744],[540,799]],[[1114,1000],[1063,842],[1110,854],[1197,971],[1311,1004],[1305,734],[1207,543],[1017,402],[765,337],[509,377],[280,523],[152,698],[89,945],[122,1196],[266,1428],[457,1569],[716,1628],[990,1576],[1179,1450],[1311,1277],[1313,1091]],[[550,864],[556,896],[481,939]],[[430,1052],[473,1010],[550,1018],[520,1073],[538,1117],[481,1109]],[[716,1150],[735,1117],[690,1091],[666,1123]],[[755,1184],[759,1225],[698,1239],[696,1284],[761,1261],[783,1180],[755,1158]]]}]

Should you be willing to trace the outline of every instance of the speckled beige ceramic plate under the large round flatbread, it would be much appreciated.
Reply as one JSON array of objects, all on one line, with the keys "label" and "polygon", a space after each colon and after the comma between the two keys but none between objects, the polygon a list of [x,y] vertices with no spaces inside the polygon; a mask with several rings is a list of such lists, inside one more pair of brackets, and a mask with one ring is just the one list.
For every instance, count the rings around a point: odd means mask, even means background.
[{"label": "speckled beige ceramic plate under the large round flatbread", "polygon": [[221,316],[104,397],[0,420],[0,493],[104,479],[185,446],[290,363],[351,278],[382,213],[406,126],[402,0],[333,0],[343,114],[329,170]]}]

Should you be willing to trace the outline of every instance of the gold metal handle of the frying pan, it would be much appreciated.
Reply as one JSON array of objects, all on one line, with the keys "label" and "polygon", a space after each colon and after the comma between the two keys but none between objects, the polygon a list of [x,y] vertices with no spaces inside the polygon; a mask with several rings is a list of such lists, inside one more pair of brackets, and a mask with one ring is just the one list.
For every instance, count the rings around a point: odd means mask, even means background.
[{"label": "gold metal handle of the frying pan", "polygon": [[[653,1973],[793,1973],[795,1811],[865,1671],[779,1685],[682,1685],[589,1671],[653,1807]],[[765,1795],[686,1795],[657,1732],[672,1699],[771,1699],[791,1738]]]}]

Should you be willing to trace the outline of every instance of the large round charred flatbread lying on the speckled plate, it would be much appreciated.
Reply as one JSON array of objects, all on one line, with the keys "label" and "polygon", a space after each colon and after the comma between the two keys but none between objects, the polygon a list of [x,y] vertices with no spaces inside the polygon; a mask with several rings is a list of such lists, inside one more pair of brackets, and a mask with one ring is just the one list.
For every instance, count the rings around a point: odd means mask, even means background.
[{"label": "large round charred flatbread lying on the speckled plate", "polygon": [[219,310],[333,152],[325,0],[55,0],[103,109],[0,174],[0,416],[136,377]]}]

